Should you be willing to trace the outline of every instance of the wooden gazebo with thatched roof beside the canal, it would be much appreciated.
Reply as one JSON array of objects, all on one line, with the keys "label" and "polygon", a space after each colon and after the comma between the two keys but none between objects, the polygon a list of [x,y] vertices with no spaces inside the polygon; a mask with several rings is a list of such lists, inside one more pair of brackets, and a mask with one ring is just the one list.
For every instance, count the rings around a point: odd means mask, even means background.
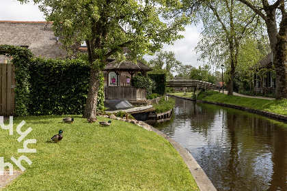
[{"label": "wooden gazebo with thatched roof beside the canal", "polygon": [[137,61],[122,61],[116,63],[115,60],[109,62],[105,67],[105,98],[107,100],[126,99],[129,101],[146,100],[146,89],[137,89],[131,85],[131,79],[141,72],[146,76],[146,72],[151,71],[147,65]]}]

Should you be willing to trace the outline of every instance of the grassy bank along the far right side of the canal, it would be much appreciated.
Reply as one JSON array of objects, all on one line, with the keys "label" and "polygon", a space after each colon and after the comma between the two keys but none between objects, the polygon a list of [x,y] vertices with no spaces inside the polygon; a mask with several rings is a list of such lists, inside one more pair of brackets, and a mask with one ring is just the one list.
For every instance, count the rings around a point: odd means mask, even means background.
[{"label": "grassy bank along the far right side of the canal", "polygon": [[[176,95],[175,93],[170,93]],[[178,95],[184,97],[183,95]],[[190,96],[191,98],[191,96]],[[284,100],[262,100],[257,98],[245,98],[236,95],[226,95],[218,91],[206,91],[197,95],[197,100],[206,100],[210,102],[219,102],[226,104],[234,104],[238,106],[245,106],[248,108],[255,108],[262,111],[269,111],[281,115],[287,115],[287,99]]]}]

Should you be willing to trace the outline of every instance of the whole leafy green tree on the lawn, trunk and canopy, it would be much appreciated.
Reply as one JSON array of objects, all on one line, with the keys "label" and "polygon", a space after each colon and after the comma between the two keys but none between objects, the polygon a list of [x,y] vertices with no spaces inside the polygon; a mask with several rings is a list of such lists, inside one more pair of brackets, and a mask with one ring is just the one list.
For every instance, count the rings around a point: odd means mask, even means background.
[{"label": "whole leafy green tree on the lawn, trunk and canopy", "polygon": [[[18,0],[23,3],[29,0]],[[182,38],[178,31],[189,23],[185,14],[172,12],[181,6],[169,1],[33,0],[40,3],[47,21],[53,21],[55,35],[65,47],[86,42],[92,66],[83,117],[96,116],[96,98],[101,70],[109,57],[136,59],[152,54]],[[128,55],[126,55],[128,54]]]}]

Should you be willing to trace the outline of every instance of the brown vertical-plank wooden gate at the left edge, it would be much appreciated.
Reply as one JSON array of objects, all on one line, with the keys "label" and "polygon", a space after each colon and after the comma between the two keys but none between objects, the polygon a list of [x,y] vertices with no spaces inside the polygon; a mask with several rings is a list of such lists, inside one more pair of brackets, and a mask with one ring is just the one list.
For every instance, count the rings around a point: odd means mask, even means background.
[{"label": "brown vertical-plank wooden gate at the left edge", "polygon": [[15,111],[15,65],[0,63],[0,116],[12,116]]}]

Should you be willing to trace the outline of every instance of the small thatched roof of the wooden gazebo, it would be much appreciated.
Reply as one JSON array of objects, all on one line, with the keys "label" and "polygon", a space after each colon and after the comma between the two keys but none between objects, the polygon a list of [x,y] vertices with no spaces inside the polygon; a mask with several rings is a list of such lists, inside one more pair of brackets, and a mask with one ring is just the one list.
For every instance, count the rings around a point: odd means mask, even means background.
[{"label": "small thatched roof of the wooden gazebo", "polygon": [[108,63],[105,67],[104,71],[107,70],[122,70],[122,71],[129,71],[129,70],[139,70],[139,71],[151,71],[152,68],[148,67],[141,63],[141,61],[137,60],[137,63],[133,63],[132,61],[122,61],[117,63],[115,60]]}]

